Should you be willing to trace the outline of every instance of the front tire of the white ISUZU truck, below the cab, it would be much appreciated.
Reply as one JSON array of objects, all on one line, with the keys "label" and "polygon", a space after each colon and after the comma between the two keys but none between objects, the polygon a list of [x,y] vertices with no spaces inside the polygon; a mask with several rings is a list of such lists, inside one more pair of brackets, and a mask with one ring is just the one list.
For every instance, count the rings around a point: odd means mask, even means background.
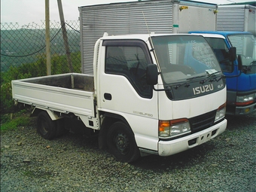
[{"label": "front tire of the white ISUZU truck, below the cab", "polygon": [[125,123],[113,123],[107,133],[109,152],[121,162],[131,163],[140,157],[133,131]]}]

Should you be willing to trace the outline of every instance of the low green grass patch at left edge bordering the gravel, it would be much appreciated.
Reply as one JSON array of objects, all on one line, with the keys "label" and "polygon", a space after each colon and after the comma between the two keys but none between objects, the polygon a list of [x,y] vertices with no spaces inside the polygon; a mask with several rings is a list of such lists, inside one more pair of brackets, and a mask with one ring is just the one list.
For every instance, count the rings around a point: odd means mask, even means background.
[{"label": "low green grass patch at left edge bordering the gravel", "polygon": [[29,126],[32,119],[29,117],[29,111],[23,109],[14,114],[1,114],[1,133],[8,130],[15,130],[19,126]]}]

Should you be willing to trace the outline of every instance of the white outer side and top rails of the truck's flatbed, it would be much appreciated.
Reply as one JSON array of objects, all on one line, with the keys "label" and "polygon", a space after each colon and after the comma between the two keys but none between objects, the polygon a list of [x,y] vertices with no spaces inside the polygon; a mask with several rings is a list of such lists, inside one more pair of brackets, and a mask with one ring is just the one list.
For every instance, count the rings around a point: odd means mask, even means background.
[{"label": "white outer side and top rails of the truck's flatbed", "polygon": [[[50,111],[58,111],[64,114],[74,113],[88,125],[85,119],[87,119],[87,117],[91,118],[96,116],[93,92],[30,82],[44,81],[48,78],[69,77],[72,75],[73,74],[51,75],[50,77],[45,76],[12,81],[13,99],[17,102],[22,102],[37,108],[49,109]],[[87,75],[81,74],[74,75],[87,77]],[[94,129],[98,129],[98,126],[94,127]]]}]

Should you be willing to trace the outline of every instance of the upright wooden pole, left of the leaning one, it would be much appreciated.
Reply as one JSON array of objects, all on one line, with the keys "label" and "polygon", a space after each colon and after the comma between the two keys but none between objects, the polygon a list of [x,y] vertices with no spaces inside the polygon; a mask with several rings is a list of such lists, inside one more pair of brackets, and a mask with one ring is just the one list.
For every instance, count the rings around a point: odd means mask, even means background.
[{"label": "upright wooden pole, left of the leaning one", "polygon": [[46,44],[46,74],[50,75],[50,11],[49,0],[45,0],[45,44]]}]

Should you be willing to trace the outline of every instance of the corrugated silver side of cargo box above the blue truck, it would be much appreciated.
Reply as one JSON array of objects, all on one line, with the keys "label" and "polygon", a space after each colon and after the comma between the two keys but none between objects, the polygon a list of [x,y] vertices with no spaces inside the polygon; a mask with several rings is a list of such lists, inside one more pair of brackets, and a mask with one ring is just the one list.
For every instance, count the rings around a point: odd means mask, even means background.
[{"label": "corrugated silver side of cargo box above the blue truck", "polygon": [[244,31],[245,7],[223,6],[218,8],[217,31]]}]

